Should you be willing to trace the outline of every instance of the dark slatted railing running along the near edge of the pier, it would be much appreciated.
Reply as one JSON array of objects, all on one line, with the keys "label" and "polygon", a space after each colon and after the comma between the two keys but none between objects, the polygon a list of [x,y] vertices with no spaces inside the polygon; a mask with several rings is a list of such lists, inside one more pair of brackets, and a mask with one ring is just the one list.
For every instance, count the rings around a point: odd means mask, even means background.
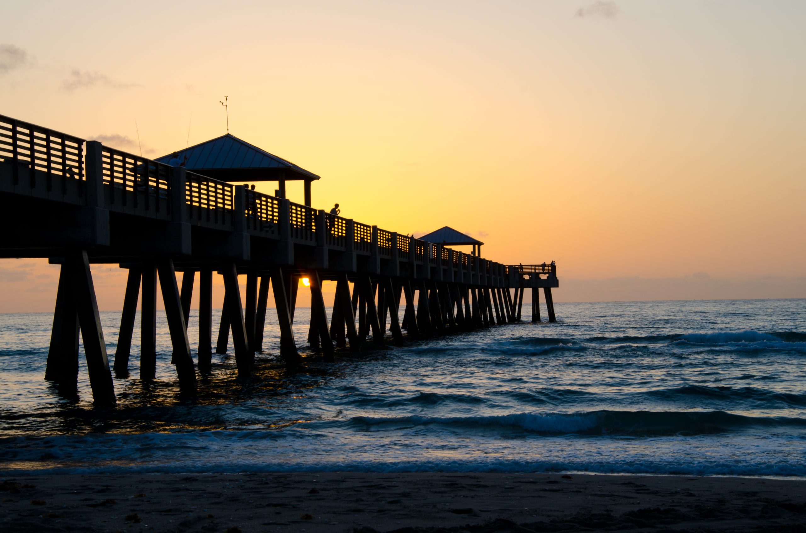
[{"label": "dark slatted railing running along the near edge of the pier", "polygon": [[[183,191],[181,174],[174,167],[5,115],[0,115],[0,159],[13,168],[4,172],[12,176],[12,188],[3,190],[22,192],[18,184],[24,177],[25,187],[33,191],[43,185],[37,180],[44,178],[48,193],[54,182],[60,181],[62,191],[57,199],[62,201],[90,205],[89,188],[101,187],[93,189],[98,190],[93,202],[102,192],[103,205],[98,207],[161,219],[176,217],[171,211],[184,201],[187,221],[193,225],[228,231],[241,231],[238,228],[243,227],[248,233],[268,238],[290,238],[310,246],[324,244],[333,250],[446,267],[459,271],[462,279],[468,275],[470,279],[517,274],[556,276],[553,264],[504,266],[191,171],[182,172]],[[243,213],[239,213],[241,209]],[[238,217],[243,217],[243,224],[236,223]],[[322,231],[324,238],[320,235],[318,241],[317,233]]]}]

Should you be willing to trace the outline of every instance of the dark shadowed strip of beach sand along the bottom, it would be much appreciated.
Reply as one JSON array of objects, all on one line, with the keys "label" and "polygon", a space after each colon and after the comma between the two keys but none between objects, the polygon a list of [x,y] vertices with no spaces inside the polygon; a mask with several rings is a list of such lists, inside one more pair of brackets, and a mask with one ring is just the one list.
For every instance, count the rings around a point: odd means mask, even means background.
[{"label": "dark shadowed strip of beach sand along the bottom", "polygon": [[806,531],[806,481],[559,473],[3,477],[16,531]]}]

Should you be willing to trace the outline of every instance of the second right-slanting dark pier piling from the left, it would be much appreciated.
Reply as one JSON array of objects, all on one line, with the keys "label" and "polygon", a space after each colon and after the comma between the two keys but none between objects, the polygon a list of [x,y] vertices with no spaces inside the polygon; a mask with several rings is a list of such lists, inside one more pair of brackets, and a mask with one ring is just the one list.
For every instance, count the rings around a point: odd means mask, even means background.
[{"label": "second right-slanting dark pier piling from the left", "polygon": [[[196,370],[193,369],[193,358],[190,357],[188,329],[185,325],[185,315],[182,311],[182,300],[172,259],[160,260],[158,271],[162,301],[165,304],[165,316],[168,318],[168,331],[171,334],[173,364],[177,366],[179,386],[185,392],[194,393],[196,391]],[[182,285],[185,283],[183,282]],[[190,287],[193,287],[193,279],[190,281]]]}]

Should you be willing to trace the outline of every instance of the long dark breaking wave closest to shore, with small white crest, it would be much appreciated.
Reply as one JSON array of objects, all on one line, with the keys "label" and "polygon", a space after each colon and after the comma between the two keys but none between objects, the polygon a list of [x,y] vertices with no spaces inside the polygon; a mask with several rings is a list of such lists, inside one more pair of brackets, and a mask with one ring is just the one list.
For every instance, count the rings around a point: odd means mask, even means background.
[{"label": "long dark breaking wave closest to shore, with small white crest", "polygon": [[343,424],[358,431],[438,426],[457,431],[480,429],[537,435],[663,436],[708,435],[750,428],[806,429],[806,419],[733,415],[725,411],[585,411],[492,416],[356,416]]}]

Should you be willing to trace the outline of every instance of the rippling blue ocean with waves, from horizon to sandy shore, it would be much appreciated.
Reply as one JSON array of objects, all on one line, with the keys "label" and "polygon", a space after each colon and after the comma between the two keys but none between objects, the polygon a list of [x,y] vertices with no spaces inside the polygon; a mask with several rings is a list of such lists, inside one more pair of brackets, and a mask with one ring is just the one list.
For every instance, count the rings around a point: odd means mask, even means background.
[{"label": "rippling blue ocean with waves, from horizon to sandy shore", "polygon": [[[301,349],[297,371],[279,361],[270,309],[254,377],[214,355],[192,400],[160,312],[156,381],[138,379],[135,326],[113,411],[93,410],[83,353],[77,398],[44,381],[51,313],[0,315],[0,470],[806,475],[806,300],[555,307],[554,324],[336,363]],[[308,317],[297,308],[297,345]],[[111,366],[120,313],[101,318]],[[193,311],[194,358],[197,324]]]}]

